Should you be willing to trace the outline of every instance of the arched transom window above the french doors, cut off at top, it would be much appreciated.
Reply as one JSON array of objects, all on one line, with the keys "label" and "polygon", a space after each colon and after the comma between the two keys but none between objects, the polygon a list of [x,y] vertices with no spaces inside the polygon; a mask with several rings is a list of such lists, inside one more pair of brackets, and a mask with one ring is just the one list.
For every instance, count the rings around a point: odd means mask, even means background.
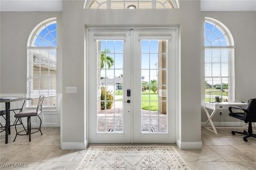
[{"label": "arched transom window above the french doors, cut off at top", "polygon": [[178,0],[85,0],[85,9],[179,8]]}]

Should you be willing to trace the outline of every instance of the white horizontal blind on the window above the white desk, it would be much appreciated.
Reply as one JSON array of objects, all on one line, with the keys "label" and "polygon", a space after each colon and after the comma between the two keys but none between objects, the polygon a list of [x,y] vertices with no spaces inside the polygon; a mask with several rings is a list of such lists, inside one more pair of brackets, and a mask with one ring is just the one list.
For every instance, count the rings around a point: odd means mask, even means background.
[{"label": "white horizontal blind on the window above the white desk", "polygon": [[235,100],[234,47],[205,47],[205,83],[210,102]]}]

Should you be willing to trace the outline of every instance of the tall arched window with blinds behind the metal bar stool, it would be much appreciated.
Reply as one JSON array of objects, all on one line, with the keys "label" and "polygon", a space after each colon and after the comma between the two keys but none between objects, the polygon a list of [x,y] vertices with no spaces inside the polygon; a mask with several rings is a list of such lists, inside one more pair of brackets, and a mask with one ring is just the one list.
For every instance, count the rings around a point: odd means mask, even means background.
[{"label": "tall arched window with blinds behind the metal bar stool", "polygon": [[44,94],[44,107],[56,107],[56,18],[39,23],[28,38],[26,106],[37,106]]}]

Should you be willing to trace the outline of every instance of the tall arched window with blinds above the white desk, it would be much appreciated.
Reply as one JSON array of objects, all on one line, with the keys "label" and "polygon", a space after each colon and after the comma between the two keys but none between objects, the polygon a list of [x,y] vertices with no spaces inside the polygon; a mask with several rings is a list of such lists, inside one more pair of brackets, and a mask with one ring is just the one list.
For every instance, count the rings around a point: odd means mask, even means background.
[{"label": "tall arched window with blinds above the white desk", "polygon": [[205,101],[235,100],[234,40],[218,20],[205,18]]}]

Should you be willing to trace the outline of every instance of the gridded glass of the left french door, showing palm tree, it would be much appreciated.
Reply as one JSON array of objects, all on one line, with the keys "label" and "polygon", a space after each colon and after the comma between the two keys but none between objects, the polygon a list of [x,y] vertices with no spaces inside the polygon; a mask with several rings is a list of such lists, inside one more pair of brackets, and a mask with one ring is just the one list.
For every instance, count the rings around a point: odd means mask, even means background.
[{"label": "gridded glass of the left french door, showing palm tree", "polygon": [[123,44],[97,41],[97,132],[123,132]]}]

